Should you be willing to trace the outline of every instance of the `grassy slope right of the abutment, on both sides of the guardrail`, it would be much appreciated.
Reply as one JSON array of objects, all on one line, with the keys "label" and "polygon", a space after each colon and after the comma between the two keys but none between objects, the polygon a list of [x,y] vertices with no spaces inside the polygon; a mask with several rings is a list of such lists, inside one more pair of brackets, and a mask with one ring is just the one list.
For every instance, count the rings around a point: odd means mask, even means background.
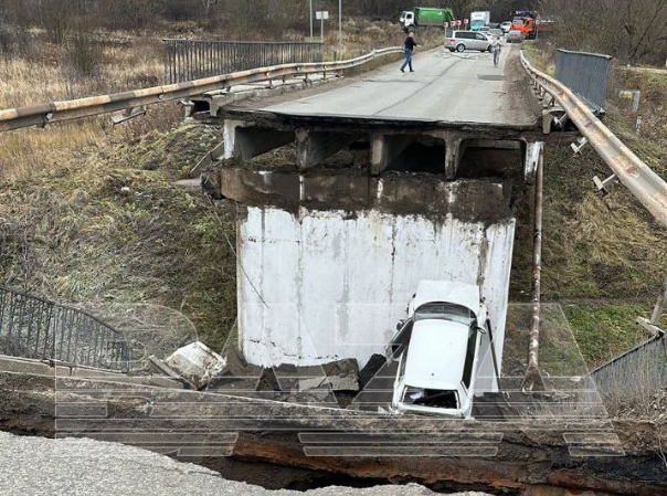
[{"label": "grassy slope right of the abutment, on both sides of the guardrail", "polygon": [[[548,57],[526,44],[533,63],[549,71]],[[645,133],[634,133],[635,116],[612,98],[605,124],[667,178],[667,127],[663,107],[667,78],[617,76],[615,85],[645,95]],[[542,289],[547,300],[563,303],[574,336],[586,361],[599,365],[645,340],[635,319],[648,317],[667,274],[667,230],[658,225],[621,184],[600,198],[592,178],[611,175],[587,147],[574,157],[569,143],[548,147],[544,161],[544,244]],[[522,202],[521,218],[527,219]],[[525,299],[530,291],[532,226],[520,222],[512,274],[512,295]],[[595,300],[596,299],[596,300]]]}]

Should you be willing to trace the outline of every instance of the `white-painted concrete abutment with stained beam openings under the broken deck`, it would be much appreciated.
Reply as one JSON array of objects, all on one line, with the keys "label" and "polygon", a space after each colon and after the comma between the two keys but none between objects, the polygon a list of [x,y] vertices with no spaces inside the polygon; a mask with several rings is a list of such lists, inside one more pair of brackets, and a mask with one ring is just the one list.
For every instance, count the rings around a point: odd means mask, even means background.
[{"label": "white-painted concrete abutment with stained beam openings under the broken deck", "polygon": [[[224,140],[229,160],[209,181],[220,197],[247,207],[237,225],[237,284],[248,362],[354,358],[363,366],[384,352],[419,282],[448,279],[480,287],[500,365],[512,183],[530,182],[543,144],[511,129],[253,118],[227,120]],[[252,161],[285,145],[292,165]],[[331,161],[341,150],[367,154]],[[488,339],[484,347],[480,377],[490,378]]]}]

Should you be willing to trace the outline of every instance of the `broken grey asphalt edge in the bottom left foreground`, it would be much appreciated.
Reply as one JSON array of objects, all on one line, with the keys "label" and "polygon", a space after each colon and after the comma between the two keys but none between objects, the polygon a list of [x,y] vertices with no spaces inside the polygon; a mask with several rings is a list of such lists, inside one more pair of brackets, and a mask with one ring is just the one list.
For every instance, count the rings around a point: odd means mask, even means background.
[{"label": "broken grey asphalt edge in the bottom left foreground", "polygon": [[[329,487],[269,492],[198,465],[92,440],[19,437],[0,432],[0,495],[7,496],[426,496],[424,487]],[[466,496],[485,496],[465,493]]]}]

